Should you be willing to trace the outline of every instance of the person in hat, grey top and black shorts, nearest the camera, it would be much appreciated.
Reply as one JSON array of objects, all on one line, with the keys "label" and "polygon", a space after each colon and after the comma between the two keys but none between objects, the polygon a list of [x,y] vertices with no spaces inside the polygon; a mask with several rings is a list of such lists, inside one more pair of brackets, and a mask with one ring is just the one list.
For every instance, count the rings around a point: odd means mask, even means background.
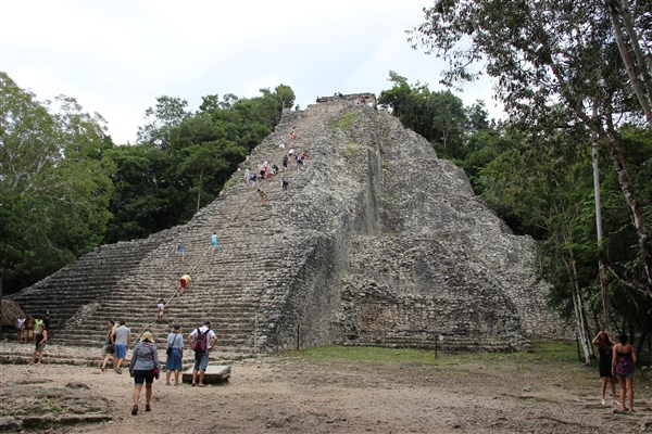
[{"label": "person in hat, grey top and black shorts, nearest the camera", "polygon": [[129,373],[134,378],[134,407],[131,416],[138,414],[138,401],[142,383],[145,383],[145,411],[152,411],[150,403],[154,392],[154,379],[159,380],[161,372],[161,362],[159,361],[159,350],[154,345],[154,336],[151,332],[142,333],[140,343],[134,348],[131,362],[129,363]]}]

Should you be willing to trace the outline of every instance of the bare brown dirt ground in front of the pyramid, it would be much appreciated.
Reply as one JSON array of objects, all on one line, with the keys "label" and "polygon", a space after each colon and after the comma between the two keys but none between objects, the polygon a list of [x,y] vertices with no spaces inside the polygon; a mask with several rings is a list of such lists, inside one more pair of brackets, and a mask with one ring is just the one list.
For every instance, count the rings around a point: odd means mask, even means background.
[{"label": "bare brown dirt ground in front of the pyramid", "polygon": [[[637,412],[628,414],[614,411],[611,399],[601,405],[597,368],[510,357],[497,363],[486,357],[447,360],[439,366],[310,362],[296,355],[241,360],[230,363],[231,378],[220,385],[155,381],[152,411],[135,417],[126,370],[5,363],[0,426],[106,434],[652,432],[650,380],[635,379]],[[141,396],[141,409],[143,404]],[[60,424],[39,427],[43,420]],[[82,420],[87,423],[73,423]]]}]

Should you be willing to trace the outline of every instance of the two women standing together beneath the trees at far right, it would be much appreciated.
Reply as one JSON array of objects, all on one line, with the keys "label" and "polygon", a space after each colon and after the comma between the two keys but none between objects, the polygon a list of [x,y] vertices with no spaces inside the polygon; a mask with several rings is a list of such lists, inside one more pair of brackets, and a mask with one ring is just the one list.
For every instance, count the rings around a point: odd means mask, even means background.
[{"label": "two women standing together beneath the trees at far right", "polygon": [[[634,367],[637,362],[636,348],[629,343],[629,336],[622,333],[618,341],[612,340],[606,331],[598,333],[593,345],[599,350],[599,370],[602,381],[602,405],[606,404],[606,385],[611,384],[614,404],[620,406],[620,411],[634,410]],[[616,399],[616,380],[620,388],[620,400]]]}]

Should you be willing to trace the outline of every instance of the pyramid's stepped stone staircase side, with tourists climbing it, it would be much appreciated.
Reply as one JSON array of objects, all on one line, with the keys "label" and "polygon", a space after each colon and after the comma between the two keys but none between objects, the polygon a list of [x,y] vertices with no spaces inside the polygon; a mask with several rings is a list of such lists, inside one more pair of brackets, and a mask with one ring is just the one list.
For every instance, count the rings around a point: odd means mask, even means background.
[{"label": "pyramid's stepped stone staircase side, with tourists climbing it", "polygon": [[[304,231],[308,228],[301,220],[287,220],[289,215],[299,217],[309,212],[301,195],[312,179],[312,162],[300,170],[290,161],[287,171],[260,182],[256,189],[266,192],[265,204],[255,189],[241,180],[241,174],[246,167],[258,171],[263,159],[280,167],[280,135],[287,138],[287,150],[294,148],[297,152],[324,140],[327,135],[322,119],[328,116],[321,111],[312,113],[286,113],[275,133],[252,152],[218,200],[188,225],[147,240],[102,246],[11,298],[30,314],[49,310],[54,326],[51,340],[61,344],[100,345],[109,319],[125,319],[135,337],[151,330],[160,341],[174,322],[180,322],[187,334],[211,319],[223,352],[256,353],[261,349],[256,324],[265,319],[264,310],[277,309],[275,306],[284,303],[287,288],[302,272],[304,255],[314,247],[312,233]],[[300,135],[296,140],[288,138],[292,126]],[[290,181],[288,191],[280,189],[281,175]],[[220,239],[215,254],[210,253],[213,231]],[[288,239],[293,242],[288,243]],[[184,263],[175,256],[178,242],[186,247]],[[294,242],[300,245],[292,245]],[[179,296],[177,282],[184,273],[190,273],[193,281]],[[156,321],[155,306],[161,297],[168,306],[166,315]],[[261,343],[267,339],[262,336]]]}]

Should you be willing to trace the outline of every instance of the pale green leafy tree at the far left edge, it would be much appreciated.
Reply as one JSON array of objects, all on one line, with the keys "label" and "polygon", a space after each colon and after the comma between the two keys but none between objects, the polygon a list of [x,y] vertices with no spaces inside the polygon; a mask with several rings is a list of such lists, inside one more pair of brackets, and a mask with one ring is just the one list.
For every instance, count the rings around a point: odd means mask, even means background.
[{"label": "pale green leafy tree at the far left edge", "polygon": [[104,131],[74,99],[39,102],[0,73],[0,270],[10,292],[100,244],[114,170]]}]

